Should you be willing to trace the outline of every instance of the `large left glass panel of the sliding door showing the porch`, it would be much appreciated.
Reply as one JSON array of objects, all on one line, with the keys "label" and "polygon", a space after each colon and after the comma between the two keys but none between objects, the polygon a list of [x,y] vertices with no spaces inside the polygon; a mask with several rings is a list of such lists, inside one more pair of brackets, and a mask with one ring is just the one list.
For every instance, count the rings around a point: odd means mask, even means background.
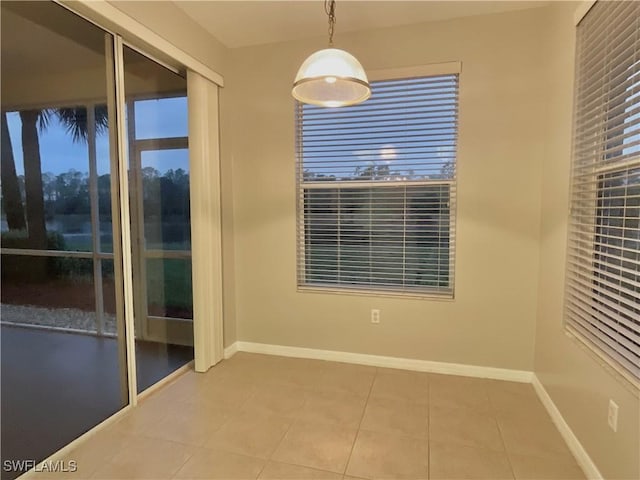
[{"label": "large left glass panel of the sliding door showing the porch", "polygon": [[[5,465],[43,460],[121,409],[128,392],[124,332],[107,335],[99,293],[113,260],[98,257],[94,235],[111,229],[113,39],[55,2],[0,8]],[[100,215],[102,228],[92,224]]]}]

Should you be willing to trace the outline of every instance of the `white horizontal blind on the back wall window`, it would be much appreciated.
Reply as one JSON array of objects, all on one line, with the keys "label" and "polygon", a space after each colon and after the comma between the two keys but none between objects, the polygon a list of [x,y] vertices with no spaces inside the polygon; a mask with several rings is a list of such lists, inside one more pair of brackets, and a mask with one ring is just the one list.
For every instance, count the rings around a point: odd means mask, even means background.
[{"label": "white horizontal blind on the back wall window", "polygon": [[458,75],[297,106],[298,285],[453,295]]}]

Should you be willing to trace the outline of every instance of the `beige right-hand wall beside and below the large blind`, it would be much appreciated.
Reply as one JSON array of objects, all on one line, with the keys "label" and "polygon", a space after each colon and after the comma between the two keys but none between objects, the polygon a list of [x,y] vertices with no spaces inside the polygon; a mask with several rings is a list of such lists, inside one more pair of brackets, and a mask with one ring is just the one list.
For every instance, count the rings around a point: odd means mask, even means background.
[{"label": "beige right-hand wall beside and below the large blind", "polygon": [[[554,6],[547,31],[549,112],[542,156],[542,222],[535,371],[563,417],[607,479],[640,478],[640,403],[633,389],[564,333],[575,5]],[[620,407],[607,426],[609,399]]]}]

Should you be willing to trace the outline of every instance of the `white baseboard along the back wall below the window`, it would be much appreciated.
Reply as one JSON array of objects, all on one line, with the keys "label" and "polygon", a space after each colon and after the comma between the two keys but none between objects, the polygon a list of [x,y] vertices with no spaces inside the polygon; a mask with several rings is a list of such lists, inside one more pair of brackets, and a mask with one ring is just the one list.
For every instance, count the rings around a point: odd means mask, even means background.
[{"label": "white baseboard along the back wall below the window", "polygon": [[[229,355],[227,355],[227,352]],[[447,375],[462,375],[466,377],[493,378],[512,382],[530,383],[533,372],[525,370],[510,370],[506,368],[479,367],[459,363],[432,362],[413,358],[385,357],[381,355],[366,355],[363,353],[337,352],[334,350],[317,350],[314,348],[288,347],[284,345],[269,345],[266,343],[235,342],[225,349],[225,358],[235,352],[264,353],[280,355],[282,357],[311,358],[314,360],[328,360],[332,362],[355,363],[372,367],[399,368],[418,372],[443,373]]]}]

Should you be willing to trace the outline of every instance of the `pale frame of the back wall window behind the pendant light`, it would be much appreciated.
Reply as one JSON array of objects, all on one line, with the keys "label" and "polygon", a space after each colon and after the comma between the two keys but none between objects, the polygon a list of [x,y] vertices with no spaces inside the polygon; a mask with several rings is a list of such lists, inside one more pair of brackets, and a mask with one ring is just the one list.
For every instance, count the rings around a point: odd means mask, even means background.
[{"label": "pale frame of the back wall window behind the pendant light", "polygon": [[[367,71],[367,75],[370,82],[376,81],[388,81],[388,80],[404,80],[418,77],[430,77],[438,75],[458,75],[458,82],[460,81],[460,74],[462,71],[461,62],[446,62],[446,63],[434,63],[419,66],[390,68],[390,69],[378,69]],[[459,85],[459,84],[458,84]],[[460,103],[460,90],[458,90],[458,105]],[[343,284],[309,284],[306,282],[306,242],[305,242],[305,189],[311,186],[311,188],[330,189],[330,183],[335,185],[335,182],[308,182],[303,183],[299,181],[302,177],[303,167],[303,155],[302,155],[302,129],[299,128],[297,115],[301,104],[298,101],[294,102],[294,124],[295,124],[295,175],[296,175],[296,288],[301,293],[330,293],[337,295],[351,295],[351,296],[376,296],[376,297],[410,297],[420,299],[433,299],[451,301],[455,299],[455,249],[449,256],[449,287],[439,289],[433,287],[433,290],[417,290],[410,291],[402,287],[395,290],[391,286],[375,286],[375,285],[343,285]],[[456,135],[459,142],[459,114],[458,125]],[[450,239],[455,239],[456,234],[456,218],[457,218],[457,166],[459,164],[458,148],[456,148],[456,169],[452,179],[432,179],[432,180],[414,180],[414,181],[389,181],[384,184],[376,181],[341,181],[340,187],[333,187],[333,189],[348,188],[349,184],[353,184],[359,188],[393,188],[393,187],[413,187],[424,185],[447,185],[449,191],[449,235]],[[321,185],[320,185],[321,184]],[[406,193],[405,193],[406,195]],[[455,242],[455,240],[454,240]]]}]

